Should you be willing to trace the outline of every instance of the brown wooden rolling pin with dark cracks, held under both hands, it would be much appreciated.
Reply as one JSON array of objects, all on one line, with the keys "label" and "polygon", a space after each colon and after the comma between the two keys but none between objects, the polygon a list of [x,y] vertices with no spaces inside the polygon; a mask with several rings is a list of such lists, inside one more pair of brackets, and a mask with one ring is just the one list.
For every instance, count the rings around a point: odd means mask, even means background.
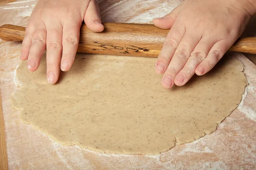
[{"label": "brown wooden rolling pin with dark cracks, held under both hands", "polygon": [[[85,24],[80,30],[77,52],[126,56],[157,57],[169,30],[148,24],[104,23],[104,31],[94,33]],[[3,25],[0,38],[22,41],[25,27]],[[239,38],[229,51],[256,54],[256,37]]]}]

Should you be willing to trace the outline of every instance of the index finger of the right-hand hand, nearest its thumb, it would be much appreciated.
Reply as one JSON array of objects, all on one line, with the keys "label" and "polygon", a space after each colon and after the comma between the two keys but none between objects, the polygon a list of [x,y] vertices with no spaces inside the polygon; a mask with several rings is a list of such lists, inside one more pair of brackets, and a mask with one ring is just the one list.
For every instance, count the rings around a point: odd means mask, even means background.
[{"label": "index finger of the right-hand hand, nearest its thumb", "polygon": [[166,71],[184,34],[185,27],[183,25],[174,24],[170,29],[155,65],[155,70],[158,74],[163,74]]}]

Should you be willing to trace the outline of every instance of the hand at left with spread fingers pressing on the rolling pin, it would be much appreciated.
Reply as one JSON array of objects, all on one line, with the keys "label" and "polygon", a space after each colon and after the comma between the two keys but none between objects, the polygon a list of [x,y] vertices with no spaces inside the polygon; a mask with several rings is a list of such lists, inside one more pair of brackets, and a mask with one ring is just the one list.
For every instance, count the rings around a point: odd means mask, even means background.
[{"label": "hand at left with spread fingers pressing on the rolling pin", "polygon": [[60,66],[68,71],[73,65],[83,21],[91,31],[104,30],[95,0],[38,0],[21,48],[28,70],[37,70],[47,47],[47,81],[57,82]]}]

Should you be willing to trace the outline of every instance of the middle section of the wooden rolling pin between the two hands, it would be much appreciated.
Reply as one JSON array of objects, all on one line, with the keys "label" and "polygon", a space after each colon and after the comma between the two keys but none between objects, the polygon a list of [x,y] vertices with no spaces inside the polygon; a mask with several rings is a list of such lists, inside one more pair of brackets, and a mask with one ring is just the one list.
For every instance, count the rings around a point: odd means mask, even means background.
[{"label": "middle section of the wooden rolling pin between the two hands", "polygon": [[148,24],[105,23],[100,33],[81,26],[78,52],[157,57],[169,30]]}]

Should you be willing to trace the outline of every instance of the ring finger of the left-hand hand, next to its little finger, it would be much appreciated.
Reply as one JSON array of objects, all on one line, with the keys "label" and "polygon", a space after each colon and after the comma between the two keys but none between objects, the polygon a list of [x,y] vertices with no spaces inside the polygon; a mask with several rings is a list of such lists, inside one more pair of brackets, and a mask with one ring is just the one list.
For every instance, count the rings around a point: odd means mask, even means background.
[{"label": "ring finger of the left-hand hand, next to its little finger", "polygon": [[46,28],[44,23],[40,23],[37,28],[35,28],[34,35],[32,37],[32,44],[29,50],[27,67],[29,71],[36,71],[41,57],[45,50],[46,43]]}]

